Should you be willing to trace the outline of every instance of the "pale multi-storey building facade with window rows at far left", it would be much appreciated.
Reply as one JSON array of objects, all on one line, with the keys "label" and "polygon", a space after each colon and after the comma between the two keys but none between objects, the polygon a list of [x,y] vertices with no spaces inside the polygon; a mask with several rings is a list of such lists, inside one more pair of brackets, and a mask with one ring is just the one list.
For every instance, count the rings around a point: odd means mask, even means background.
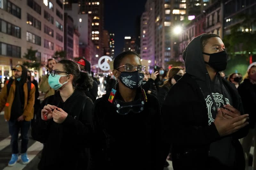
[{"label": "pale multi-storey building facade with window rows at far left", "polygon": [[12,74],[12,66],[24,62],[23,55],[30,47],[38,50],[36,56],[42,64],[55,51],[63,50],[64,11],[60,0],[1,0],[0,11],[2,78]]}]

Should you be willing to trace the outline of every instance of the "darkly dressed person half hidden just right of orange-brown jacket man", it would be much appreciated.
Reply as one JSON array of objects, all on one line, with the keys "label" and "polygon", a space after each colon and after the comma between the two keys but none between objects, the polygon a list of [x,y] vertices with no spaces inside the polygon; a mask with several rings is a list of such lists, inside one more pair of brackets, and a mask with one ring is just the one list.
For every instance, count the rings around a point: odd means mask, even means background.
[{"label": "darkly dressed person half hidden just right of orange-brown jacket man", "polygon": [[35,80],[34,76],[31,75],[31,71],[28,70],[28,82],[31,82],[35,85],[36,91],[35,91],[35,104],[34,104],[34,117],[31,120],[31,126],[33,126],[33,123],[35,122],[36,119],[36,113],[40,107],[40,100],[39,100],[39,90],[38,90],[38,83]]}]

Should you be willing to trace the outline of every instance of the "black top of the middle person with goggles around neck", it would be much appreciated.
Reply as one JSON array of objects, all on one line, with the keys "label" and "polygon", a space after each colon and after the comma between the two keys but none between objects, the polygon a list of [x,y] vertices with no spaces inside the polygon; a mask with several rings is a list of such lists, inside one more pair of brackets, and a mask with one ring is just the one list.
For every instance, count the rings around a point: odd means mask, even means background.
[{"label": "black top of the middle person with goggles around neck", "polygon": [[[121,95],[116,93],[115,98],[121,100]],[[92,151],[93,168],[160,169],[158,151],[161,125],[160,108],[156,97],[147,94],[148,102],[140,113],[119,115],[114,104],[108,101],[109,94],[94,103],[96,141]]]}]

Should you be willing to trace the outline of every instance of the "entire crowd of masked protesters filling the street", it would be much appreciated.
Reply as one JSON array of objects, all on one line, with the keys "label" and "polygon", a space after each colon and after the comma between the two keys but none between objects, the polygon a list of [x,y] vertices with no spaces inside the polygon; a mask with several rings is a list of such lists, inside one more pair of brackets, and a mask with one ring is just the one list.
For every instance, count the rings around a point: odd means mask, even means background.
[{"label": "entire crowd of masked protesters filling the street", "polygon": [[[99,82],[84,58],[49,59],[39,85],[17,65],[15,79],[0,94],[11,134],[8,165],[19,153],[29,162],[31,122],[31,136],[44,144],[40,170],[163,170],[166,159],[174,170],[247,170],[252,138],[256,144],[256,65],[244,76],[227,78],[228,54],[216,34],[194,38],[183,59],[185,68],[156,66],[149,72],[138,54],[123,52],[100,98]],[[45,94],[41,104],[39,91]]]}]

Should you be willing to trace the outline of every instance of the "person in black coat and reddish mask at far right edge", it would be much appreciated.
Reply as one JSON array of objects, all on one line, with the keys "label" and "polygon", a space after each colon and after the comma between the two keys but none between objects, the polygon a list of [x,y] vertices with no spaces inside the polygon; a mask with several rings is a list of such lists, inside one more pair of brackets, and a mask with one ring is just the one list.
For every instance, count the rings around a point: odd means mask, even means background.
[{"label": "person in black coat and reddish mask at far right edge", "polygon": [[244,81],[237,88],[244,106],[244,113],[249,114],[249,133],[246,137],[241,139],[241,144],[244,149],[245,156],[245,170],[248,170],[248,161],[250,149],[252,146],[252,139],[254,142],[253,150],[253,170],[256,170],[256,65],[253,65],[244,75]]}]

